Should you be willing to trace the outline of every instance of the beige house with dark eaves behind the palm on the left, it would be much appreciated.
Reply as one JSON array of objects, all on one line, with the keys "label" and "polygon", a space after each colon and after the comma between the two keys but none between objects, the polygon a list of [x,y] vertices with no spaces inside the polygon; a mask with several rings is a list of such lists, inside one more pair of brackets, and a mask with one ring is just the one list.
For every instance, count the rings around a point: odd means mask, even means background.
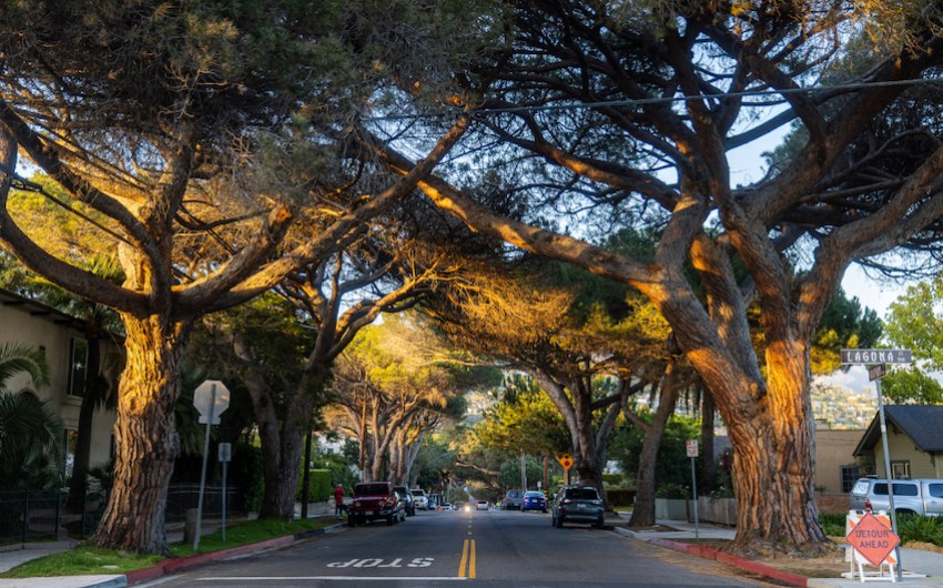
[{"label": "beige house with dark eaves behind the palm on the left", "polygon": [[[79,408],[84,394],[84,373],[88,363],[88,342],[83,336],[83,322],[51,306],[40,304],[12,292],[0,290],[0,344],[22,343],[38,347],[45,355],[50,367],[48,388],[34,389],[29,377],[17,376],[7,382],[11,393],[33,394],[44,401],[59,415],[64,425],[63,448],[65,449],[65,475],[71,474],[78,438]],[[109,343],[102,356],[115,357],[121,348]],[[115,373],[108,376],[116,382]],[[113,410],[97,409],[92,419],[92,466],[104,465],[114,455],[115,414]]]}]

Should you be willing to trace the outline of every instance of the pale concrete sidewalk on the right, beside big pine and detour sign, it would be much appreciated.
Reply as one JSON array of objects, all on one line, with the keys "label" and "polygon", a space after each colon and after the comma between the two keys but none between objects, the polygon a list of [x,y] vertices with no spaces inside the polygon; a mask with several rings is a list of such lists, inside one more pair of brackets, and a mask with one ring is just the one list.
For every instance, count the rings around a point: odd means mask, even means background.
[{"label": "pale concrete sidewalk on the right, beside big pine and detour sign", "polygon": [[[710,557],[711,554],[697,554],[696,549],[690,549],[690,544],[680,544],[676,541],[693,539],[696,530],[698,531],[697,536],[701,539],[733,539],[737,533],[736,529],[731,527],[719,527],[714,525],[700,525],[699,528],[696,529],[693,523],[682,520],[658,520],[657,523],[661,527],[669,527],[676,530],[637,531],[616,527],[616,531],[621,535],[660,545],[662,547],[678,549],[686,552],[694,552],[694,555],[701,555],[701,557]],[[756,562],[744,558],[724,555],[722,559],[718,558],[718,560],[762,574],[762,570],[757,569]],[[896,584],[905,586],[906,588],[943,587],[943,555],[934,551],[924,551],[923,549],[902,548],[901,562],[903,564],[904,577]],[[875,568],[869,569],[873,571]],[[791,581],[798,586],[807,586],[809,588],[854,588],[861,587],[863,584],[856,575],[853,580],[850,578],[804,578],[804,584],[802,582],[803,578],[801,577],[780,579]],[[871,586],[874,581],[881,581],[882,585],[891,584],[889,578],[882,580],[872,580],[869,578],[864,584]]]}]

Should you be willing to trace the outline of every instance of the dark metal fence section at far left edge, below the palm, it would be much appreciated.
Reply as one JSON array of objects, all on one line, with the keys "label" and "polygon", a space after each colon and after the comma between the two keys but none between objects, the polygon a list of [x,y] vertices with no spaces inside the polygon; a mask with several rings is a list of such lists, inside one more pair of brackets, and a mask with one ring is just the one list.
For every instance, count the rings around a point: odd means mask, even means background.
[{"label": "dark metal fence section at far left edge, below the palm", "polygon": [[59,490],[0,490],[0,545],[57,539]]}]

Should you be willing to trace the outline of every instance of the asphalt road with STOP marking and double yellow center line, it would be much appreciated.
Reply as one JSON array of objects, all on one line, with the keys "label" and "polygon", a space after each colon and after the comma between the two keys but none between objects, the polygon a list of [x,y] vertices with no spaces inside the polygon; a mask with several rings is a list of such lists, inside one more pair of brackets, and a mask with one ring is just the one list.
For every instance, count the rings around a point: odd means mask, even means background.
[{"label": "asphalt road with STOP marking and double yellow center line", "polygon": [[473,510],[419,511],[394,526],[377,521],[344,528],[148,586],[769,586],[736,574],[588,525],[557,529],[549,515]]}]

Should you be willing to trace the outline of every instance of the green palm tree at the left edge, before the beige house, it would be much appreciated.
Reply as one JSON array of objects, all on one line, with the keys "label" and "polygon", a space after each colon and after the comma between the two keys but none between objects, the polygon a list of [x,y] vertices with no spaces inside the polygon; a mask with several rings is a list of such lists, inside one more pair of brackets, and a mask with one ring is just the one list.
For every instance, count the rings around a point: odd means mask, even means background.
[{"label": "green palm tree at the left edge, before the beige house", "polygon": [[42,352],[18,343],[0,346],[0,487],[49,488],[60,478],[62,423],[33,394],[8,388],[21,374],[34,387],[49,385]]}]

